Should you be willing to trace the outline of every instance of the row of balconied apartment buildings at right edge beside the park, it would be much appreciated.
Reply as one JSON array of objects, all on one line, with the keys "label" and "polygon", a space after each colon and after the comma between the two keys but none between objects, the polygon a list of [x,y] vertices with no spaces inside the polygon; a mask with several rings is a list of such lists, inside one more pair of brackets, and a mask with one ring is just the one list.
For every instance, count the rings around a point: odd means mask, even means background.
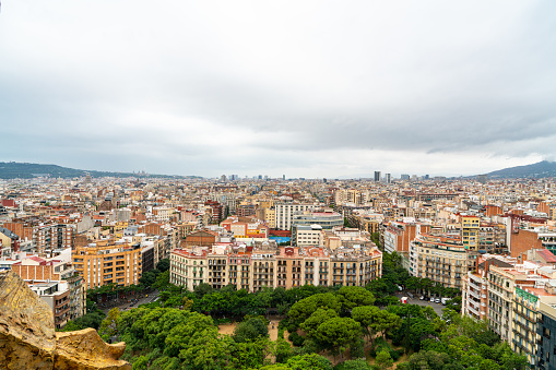
[{"label": "row of balconied apartment buildings at right edge beside the park", "polygon": [[501,255],[487,258],[477,273],[468,273],[462,314],[487,320],[502,341],[527,357],[529,368],[552,369],[556,268],[529,261],[518,264],[518,259]]}]

